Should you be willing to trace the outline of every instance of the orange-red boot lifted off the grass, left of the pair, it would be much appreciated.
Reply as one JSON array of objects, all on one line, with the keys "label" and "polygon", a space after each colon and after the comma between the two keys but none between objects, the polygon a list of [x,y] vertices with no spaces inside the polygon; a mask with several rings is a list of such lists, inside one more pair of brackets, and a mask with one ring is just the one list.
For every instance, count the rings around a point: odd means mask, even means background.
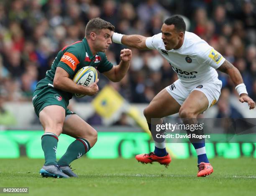
[{"label": "orange-red boot lifted off the grass, left of the pair", "polygon": [[170,157],[169,153],[166,154],[166,156],[156,156],[154,154],[154,152],[148,153],[148,154],[138,154],[135,156],[135,158],[137,159],[137,161],[141,162],[141,163],[151,163],[152,162],[158,162],[161,165],[165,165],[165,167],[167,168],[167,166],[169,166],[169,163],[171,163],[172,158]]}]

